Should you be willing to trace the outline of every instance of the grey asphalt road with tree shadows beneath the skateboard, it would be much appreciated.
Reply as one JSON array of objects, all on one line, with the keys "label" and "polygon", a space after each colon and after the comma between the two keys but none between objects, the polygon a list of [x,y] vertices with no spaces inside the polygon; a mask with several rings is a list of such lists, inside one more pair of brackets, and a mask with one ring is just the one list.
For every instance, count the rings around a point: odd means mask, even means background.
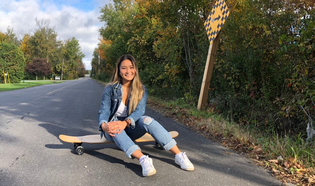
[{"label": "grey asphalt road with tree shadows beneath the skateboard", "polygon": [[177,145],[194,171],[180,169],[155,142],[138,143],[157,170],[150,177],[115,144],[83,144],[85,153],[77,155],[58,136],[99,134],[103,90],[81,78],[0,92],[0,185],[281,185],[261,167],[149,108],[146,115],[179,132]]}]

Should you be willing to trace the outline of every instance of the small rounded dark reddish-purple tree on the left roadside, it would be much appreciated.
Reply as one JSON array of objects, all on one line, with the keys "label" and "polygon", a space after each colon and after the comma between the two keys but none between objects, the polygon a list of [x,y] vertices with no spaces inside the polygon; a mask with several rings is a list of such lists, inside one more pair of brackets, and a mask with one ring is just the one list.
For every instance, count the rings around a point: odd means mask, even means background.
[{"label": "small rounded dark reddish-purple tree on the left roadside", "polygon": [[47,76],[52,73],[51,66],[46,59],[34,59],[32,63],[26,65],[25,70],[28,73],[35,75],[36,80],[37,76]]}]

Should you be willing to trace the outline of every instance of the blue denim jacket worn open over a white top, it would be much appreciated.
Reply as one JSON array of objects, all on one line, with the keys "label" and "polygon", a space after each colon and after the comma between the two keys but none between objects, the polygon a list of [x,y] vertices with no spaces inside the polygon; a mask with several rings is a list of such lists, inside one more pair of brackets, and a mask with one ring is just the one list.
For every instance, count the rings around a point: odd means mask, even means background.
[{"label": "blue denim jacket worn open over a white top", "polygon": [[[112,121],[114,119],[114,115],[116,111],[118,110],[119,104],[121,103],[123,99],[123,86],[122,84],[114,84],[109,85],[105,87],[103,96],[102,96],[102,103],[100,105],[100,111],[98,115],[98,121],[99,121],[99,131],[101,131],[100,137],[103,137],[104,131],[101,128],[102,123],[108,123],[109,121]],[[148,90],[143,85],[143,95],[141,100],[139,101],[137,107],[135,108],[134,112],[132,112],[130,115],[127,113],[127,118],[130,119],[131,128],[135,128],[135,122],[138,121],[138,119],[143,116],[145,110],[146,110],[146,99],[148,97]],[[130,96],[128,98],[127,102],[127,111],[129,109],[129,100]]]}]

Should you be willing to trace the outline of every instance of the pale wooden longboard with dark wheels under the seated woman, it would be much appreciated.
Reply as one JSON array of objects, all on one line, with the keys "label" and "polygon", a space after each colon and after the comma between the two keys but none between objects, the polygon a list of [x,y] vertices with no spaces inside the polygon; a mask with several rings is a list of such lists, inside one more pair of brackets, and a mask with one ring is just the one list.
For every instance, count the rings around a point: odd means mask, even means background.
[{"label": "pale wooden longboard with dark wheels under the seated woman", "polygon": [[[169,134],[172,138],[176,138],[178,136],[178,132],[171,131]],[[59,135],[59,139],[64,142],[73,143],[73,147],[75,148],[78,155],[82,155],[84,153],[84,148],[81,146],[82,143],[114,143],[108,141],[105,137],[100,139],[100,134],[95,135],[87,135],[87,136],[67,136],[67,135]],[[144,134],[141,138],[136,139],[134,142],[147,142],[147,141],[155,141],[155,139],[148,133]],[[163,149],[160,144],[155,142],[156,145]]]}]

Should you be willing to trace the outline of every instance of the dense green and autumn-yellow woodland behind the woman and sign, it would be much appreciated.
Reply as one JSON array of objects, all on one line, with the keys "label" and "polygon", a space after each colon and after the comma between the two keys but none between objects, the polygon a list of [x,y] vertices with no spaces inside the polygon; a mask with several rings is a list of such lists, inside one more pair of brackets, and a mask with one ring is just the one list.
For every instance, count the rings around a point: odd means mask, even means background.
[{"label": "dense green and autumn-yellow woodland behind the woman and sign", "polygon": [[[198,102],[209,49],[203,22],[215,1],[115,0],[101,8],[94,74],[130,53],[153,94]],[[230,0],[208,107],[240,124],[305,131],[314,121],[314,1]],[[102,75],[104,74],[104,75]],[[309,119],[310,118],[310,119]]]}]

